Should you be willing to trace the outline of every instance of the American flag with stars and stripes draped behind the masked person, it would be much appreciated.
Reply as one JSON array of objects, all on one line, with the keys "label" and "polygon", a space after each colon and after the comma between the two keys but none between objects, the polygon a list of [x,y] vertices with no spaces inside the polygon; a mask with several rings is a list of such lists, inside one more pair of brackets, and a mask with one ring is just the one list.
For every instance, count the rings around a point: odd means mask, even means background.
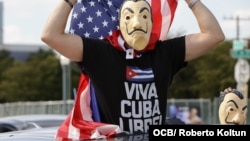
[{"label": "American flag with stars and stripes draped behind the masked person", "polygon": [[[147,0],[152,7],[153,29],[160,40],[167,38],[178,0]],[[104,39],[118,27],[123,0],[78,0],[72,10],[69,32],[87,38]],[[122,132],[118,125],[101,122],[91,80],[82,73],[74,107],[58,128],[57,140],[109,138]]]}]

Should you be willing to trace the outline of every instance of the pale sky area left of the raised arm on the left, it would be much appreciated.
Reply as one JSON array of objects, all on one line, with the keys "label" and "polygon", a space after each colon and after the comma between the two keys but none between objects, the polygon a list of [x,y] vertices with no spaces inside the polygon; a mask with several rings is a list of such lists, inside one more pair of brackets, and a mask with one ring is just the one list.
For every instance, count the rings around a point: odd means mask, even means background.
[{"label": "pale sky area left of the raised arm on the left", "polygon": [[58,1],[3,0],[4,43],[42,44],[42,27]]}]

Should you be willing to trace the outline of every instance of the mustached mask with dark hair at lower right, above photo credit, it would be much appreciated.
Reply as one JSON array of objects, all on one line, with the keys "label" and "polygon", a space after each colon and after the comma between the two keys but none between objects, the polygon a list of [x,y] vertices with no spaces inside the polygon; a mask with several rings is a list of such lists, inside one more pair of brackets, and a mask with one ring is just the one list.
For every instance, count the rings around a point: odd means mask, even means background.
[{"label": "mustached mask with dark hair at lower right, above photo credit", "polygon": [[220,99],[220,124],[246,124],[247,101],[242,93],[233,89],[231,92],[221,93]]}]

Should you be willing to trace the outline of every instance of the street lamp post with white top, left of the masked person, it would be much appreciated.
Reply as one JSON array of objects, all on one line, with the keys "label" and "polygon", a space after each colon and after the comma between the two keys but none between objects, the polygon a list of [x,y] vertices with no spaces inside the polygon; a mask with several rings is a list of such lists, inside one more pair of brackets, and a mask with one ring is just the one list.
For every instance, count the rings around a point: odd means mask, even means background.
[{"label": "street lamp post with white top, left of the masked person", "polygon": [[60,56],[60,64],[62,67],[62,99],[63,99],[63,113],[68,114],[67,110],[67,95],[69,94],[69,84],[70,81],[68,79],[69,74],[69,66],[70,60],[64,56]]}]

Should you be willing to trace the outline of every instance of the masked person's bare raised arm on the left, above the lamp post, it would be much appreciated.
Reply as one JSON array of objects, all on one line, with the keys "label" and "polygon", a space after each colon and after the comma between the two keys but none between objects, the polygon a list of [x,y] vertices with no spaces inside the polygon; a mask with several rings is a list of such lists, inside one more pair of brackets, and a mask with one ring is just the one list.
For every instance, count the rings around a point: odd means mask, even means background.
[{"label": "masked person's bare raised arm on the left, above the lamp post", "polygon": [[[76,0],[69,0],[75,4]],[[41,40],[72,61],[81,61],[83,44],[80,36],[65,33],[68,16],[72,9],[66,0],[60,0],[52,11],[42,31]]]}]

